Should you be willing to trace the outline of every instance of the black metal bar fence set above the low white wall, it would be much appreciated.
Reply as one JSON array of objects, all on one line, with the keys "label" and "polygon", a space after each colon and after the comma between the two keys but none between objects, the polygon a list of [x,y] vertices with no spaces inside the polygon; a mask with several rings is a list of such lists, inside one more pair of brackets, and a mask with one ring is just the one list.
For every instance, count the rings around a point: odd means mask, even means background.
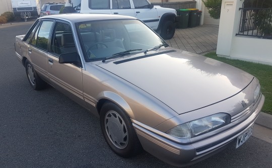
[{"label": "black metal bar fence set above the low white wall", "polygon": [[240,36],[272,39],[272,8],[239,8],[242,10]]}]

